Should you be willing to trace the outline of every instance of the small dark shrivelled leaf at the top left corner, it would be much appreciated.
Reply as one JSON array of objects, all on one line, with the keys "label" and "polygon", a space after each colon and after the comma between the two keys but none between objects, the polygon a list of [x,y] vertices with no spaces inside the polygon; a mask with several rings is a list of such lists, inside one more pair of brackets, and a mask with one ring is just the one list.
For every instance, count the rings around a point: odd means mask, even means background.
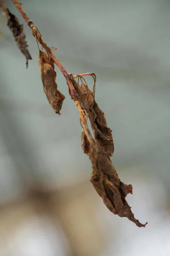
[{"label": "small dark shrivelled leaf at the top left corner", "polygon": [[6,9],[6,17],[8,19],[7,26],[12,31],[12,34],[15,38],[15,42],[17,43],[18,47],[20,48],[23,55],[26,57],[26,67],[28,67],[28,60],[31,60],[31,55],[28,52],[28,45],[26,43],[26,35],[23,32],[23,25],[21,25],[17,18]]}]

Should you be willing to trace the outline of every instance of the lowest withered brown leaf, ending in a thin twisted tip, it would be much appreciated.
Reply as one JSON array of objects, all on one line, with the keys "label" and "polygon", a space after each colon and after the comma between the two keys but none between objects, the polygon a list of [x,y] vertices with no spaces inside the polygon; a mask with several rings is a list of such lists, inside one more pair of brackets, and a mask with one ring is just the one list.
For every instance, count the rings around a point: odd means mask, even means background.
[{"label": "lowest withered brown leaf, ending in a thin twisted tip", "polygon": [[[88,128],[86,128],[88,129]],[[85,154],[88,154],[92,163],[91,183],[94,189],[103,199],[104,204],[114,214],[120,217],[127,217],[133,221],[138,227],[145,227],[147,224],[141,224],[134,218],[130,206],[127,204],[125,197],[127,194],[132,194],[132,186],[122,183],[118,177],[110,157],[105,153],[104,148],[91,139],[89,142],[85,131],[82,131],[82,149]]]}]

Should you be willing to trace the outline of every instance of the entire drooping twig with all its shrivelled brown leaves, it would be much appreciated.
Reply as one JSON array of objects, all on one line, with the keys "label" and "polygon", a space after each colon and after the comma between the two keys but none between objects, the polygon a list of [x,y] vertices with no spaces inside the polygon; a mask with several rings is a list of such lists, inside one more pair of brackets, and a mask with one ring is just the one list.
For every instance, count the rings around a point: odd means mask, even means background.
[{"label": "entire drooping twig with all its shrivelled brown leaves", "polygon": [[[54,63],[57,64],[65,76],[71,98],[76,103],[80,113],[80,120],[82,123],[82,149],[84,153],[88,155],[92,163],[93,171],[91,183],[96,189],[96,192],[103,199],[104,204],[111,212],[119,215],[120,217],[127,217],[138,227],[145,227],[147,223],[141,224],[138,220],[136,220],[136,218],[134,218],[130,206],[127,204],[125,199],[127,194],[132,194],[132,186],[126,185],[120,181],[116,169],[110,159],[114,152],[113,137],[111,134],[112,131],[110,128],[108,128],[105,115],[94,99],[96,84],[95,74],[87,73],[72,76],[72,74],[68,73],[51,52],[51,50],[55,50],[57,48],[48,47],[45,41],[43,41],[38,29],[34,26],[33,22],[28,18],[26,13],[21,8],[20,3],[18,3],[17,0],[12,1],[26,20],[27,24],[31,27],[32,33],[36,38],[37,43],[39,42],[47,52],[46,54],[39,49],[39,67],[41,79],[48,102],[54,111],[58,114],[60,114],[62,102],[65,99],[65,96],[63,96],[62,93],[57,90]],[[0,1],[0,6],[2,7],[1,2],[2,1]],[[22,34],[22,25],[17,22],[16,17],[11,15],[8,9],[6,9],[6,13],[7,12],[8,15],[6,16],[8,16],[8,26],[12,30],[18,46],[26,56],[27,60],[31,59],[31,56],[26,49],[26,42],[25,44],[23,43],[23,40],[25,40],[25,35],[23,36]],[[85,75],[90,75],[94,79],[93,92],[91,92],[91,90],[88,88],[88,84],[83,77]],[[78,78],[78,82],[75,80],[75,78]],[[81,85],[79,85],[79,81],[81,81]],[[87,119],[90,120],[94,138],[91,136],[89,131]]]}]

